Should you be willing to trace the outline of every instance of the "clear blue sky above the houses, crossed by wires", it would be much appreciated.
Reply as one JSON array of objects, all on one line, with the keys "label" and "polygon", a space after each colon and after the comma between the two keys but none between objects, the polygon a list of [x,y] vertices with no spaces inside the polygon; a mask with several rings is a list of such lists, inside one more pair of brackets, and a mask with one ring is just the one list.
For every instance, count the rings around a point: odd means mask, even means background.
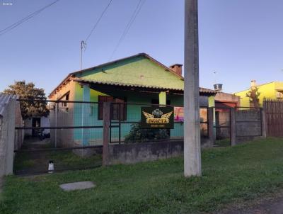
[{"label": "clear blue sky above the houses, crossed by wires", "polygon": [[[53,0],[1,0],[0,30]],[[4,6],[2,3],[12,3]],[[83,68],[108,62],[138,0],[113,0],[88,40]],[[14,80],[50,93],[80,67],[85,39],[108,0],[61,0],[0,36],[0,91]],[[282,0],[199,0],[200,86],[224,91],[283,80]],[[183,64],[183,0],[147,0],[113,60],[146,52],[166,65]]]}]

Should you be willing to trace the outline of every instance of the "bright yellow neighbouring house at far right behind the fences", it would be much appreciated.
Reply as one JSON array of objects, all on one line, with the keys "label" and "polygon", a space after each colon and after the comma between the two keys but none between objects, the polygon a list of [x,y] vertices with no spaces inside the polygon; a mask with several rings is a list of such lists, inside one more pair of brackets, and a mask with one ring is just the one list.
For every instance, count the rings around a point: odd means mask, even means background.
[{"label": "bright yellow neighbouring house at far right behind the fences", "polygon": [[272,81],[270,83],[266,84],[256,84],[255,80],[252,80],[250,82],[250,88],[236,92],[236,96],[241,97],[241,106],[244,107],[253,107],[251,105],[250,98],[247,96],[250,89],[255,89],[255,87],[258,89],[258,92],[260,93],[258,97],[258,102],[260,107],[262,107],[262,103],[264,99],[273,99],[273,100],[282,100],[283,99],[283,81]]}]

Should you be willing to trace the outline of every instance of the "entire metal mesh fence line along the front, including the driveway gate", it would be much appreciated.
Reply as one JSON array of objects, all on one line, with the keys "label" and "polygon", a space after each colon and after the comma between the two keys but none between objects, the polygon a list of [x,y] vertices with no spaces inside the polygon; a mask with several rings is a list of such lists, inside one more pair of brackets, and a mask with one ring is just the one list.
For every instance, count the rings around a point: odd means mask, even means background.
[{"label": "entire metal mesh fence line along the front, including the driveway gate", "polygon": [[[21,105],[34,108],[34,112],[33,117],[25,119],[23,125],[16,127],[16,131],[24,131],[25,139],[23,146],[15,150],[15,174],[47,172],[49,162],[54,163],[54,171],[90,169],[101,166],[103,139],[105,138],[103,135],[103,122],[105,122],[103,102],[18,101],[21,102]],[[42,104],[42,102],[49,111],[45,116],[40,114],[42,105],[39,103]],[[142,107],[173,107],[174,128],[157,131],[141,130],[139,125]],[[224,143],[231,145],[231,111],[232,108],[214,107],[212,119],[215,122],[216,142],[224,140]],[[260,108],[236,108],[234,111],[236,111],[237,137],[262,135]],[[212,109],[207,106],[200,107],[201,137],[209,140],[212,136],[212,132],[209,132],[209,127],[212,125],[209,123],[211,112]],[[183,106],[116,101],[110,103],[109,117],[109,142],[111,144],[183,141]],[[131,135],[137,135],[137,133],[144,135],[142,132],[146,132],[146,137],[139,139],[137,137],[134,140],[131,138]],[[148,135],[151,136],[147,137]],[[202,142],[204,141],[206,140],[203,139]],[[223,145],[223,142],[220,145]]]}]

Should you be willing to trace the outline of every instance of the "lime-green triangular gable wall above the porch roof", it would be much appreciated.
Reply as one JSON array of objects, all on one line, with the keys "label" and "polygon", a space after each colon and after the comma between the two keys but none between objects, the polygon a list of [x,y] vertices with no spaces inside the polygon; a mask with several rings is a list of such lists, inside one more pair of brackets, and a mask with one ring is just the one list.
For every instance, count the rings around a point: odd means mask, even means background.
[{"label": "lime-green triangular gable wall above the porch roof", "polygon": [[76,73],[75,77],[85,81],[100,81],[106,84],[166,87],[177,90],[184,88],[182,77],[142,55]]}]

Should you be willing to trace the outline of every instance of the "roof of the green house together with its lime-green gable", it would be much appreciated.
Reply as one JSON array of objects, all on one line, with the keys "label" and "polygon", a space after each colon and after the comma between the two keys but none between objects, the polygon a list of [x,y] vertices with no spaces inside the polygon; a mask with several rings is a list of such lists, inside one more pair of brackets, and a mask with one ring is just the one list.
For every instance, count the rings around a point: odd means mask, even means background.
[{"label": "roof of the green house together with its lime-green gable", "polygon": [[[112,86],[130,86],[160,90],[175,90],[183,93],[184,80],[171,68],[154,60],[146,53],[126,57],[120,60],[100,64],[96,67],[70,73],[51,92],[54,96],[70,81],[85,84],[104,84]],[[200,94],[214,96],[216,91],[200,88]]]}]

